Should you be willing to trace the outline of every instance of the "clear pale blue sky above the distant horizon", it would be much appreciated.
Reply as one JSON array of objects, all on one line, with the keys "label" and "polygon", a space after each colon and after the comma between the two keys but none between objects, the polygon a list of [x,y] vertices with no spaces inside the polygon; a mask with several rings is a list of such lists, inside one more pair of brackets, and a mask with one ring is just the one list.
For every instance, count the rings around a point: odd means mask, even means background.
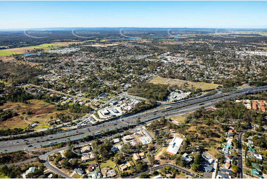
[{"label": "clear pale blue sky above the distant horizon", "polygon": [[267,1],[0,1],[0,29],[267,28]]}]

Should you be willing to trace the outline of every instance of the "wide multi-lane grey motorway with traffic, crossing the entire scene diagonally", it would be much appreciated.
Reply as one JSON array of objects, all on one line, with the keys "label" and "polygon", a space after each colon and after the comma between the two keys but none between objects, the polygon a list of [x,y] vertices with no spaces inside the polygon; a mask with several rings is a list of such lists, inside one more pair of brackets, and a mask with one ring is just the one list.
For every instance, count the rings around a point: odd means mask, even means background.
[{"label": "wide multi-lane grey motorway with traffic, crossing the entire scene diagonally", "polygon": [[[239,89],[239,90],[228,92],[228,93],[220,93],[220,94],[216,93],[208,97],[203,96],[203,97],[191,98],[191,99],[180,101],[180,102],[177,102],[176,104],[171,105],[170,106],[171,108],[168,109],[168,111],[166,111],[167,110],[166,107],[169,107],[169,105],[159,106],[159,107],[147,110],[142,113],[134,114],[132,116],[128,116],[124,118],[117,118],[111,121],[106,121],[102,124],[95,125],[95,126],[85,127],[85,128],[81,128],[78,130],[72,130],[72,131],[64,131],[61,133],[51,134],[47,136],[28,138],[27,143],[29,145],[26,145],[26,141],[24,141],[24,139],[1,141],[0,152],[4,153],[4,152],[12,152],[12,151],[18,151],[18,150],[40,148],[42,146],[52,145],[55,143],[61,143],[61,142],[64,143],[64,142],[67,142],[68,139],[70,141],[75,141],[83,137],[86,137],[88,135],[98,135],[102,131],[105,131],[106,129],[109,129],[109,130],[113,130],[115,128],[120,129],[121,127],[125,127],[128,125],[141,125],[149,121],[159,119],[162,116],[166,116],[168,118],[172,116],[186,114],[189,112],[193,112],[196,109],[199,109],[200,107],[204,107],[204,108],[212,107],[215,102],[220,101],[220,100],[225,100],[228,98],[235,98],[242,94],[248,94],[248,93],[263,91],[263,90],[267,90],[267,86],[243,88],[243,89]],[[178,109],[174,109],[177,107]],[[136,124],[137,118],[140,118],[141,124]],[[46,141],[47,139],[49,141]]]}]

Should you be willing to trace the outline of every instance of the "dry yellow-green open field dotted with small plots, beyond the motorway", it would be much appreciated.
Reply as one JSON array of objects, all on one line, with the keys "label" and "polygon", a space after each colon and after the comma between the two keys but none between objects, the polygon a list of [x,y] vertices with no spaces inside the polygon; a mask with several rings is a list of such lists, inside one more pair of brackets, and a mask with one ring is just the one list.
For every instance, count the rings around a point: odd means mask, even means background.
[{"label": "dry yellow-green open field dotted with small plots, beyond the motorway", "polygon": [[184,81],[184,80],[171,79],[171,78],[161,78],[159,76],[153,78],[149,82],[155,83],[155,84],[178,85],[178,86],[181,86],[184,83],[187,83],[186,87],[188,88],[191,88],[191,85],[193,85],[193,88],[201,88],[202,90],[215,89],[217,86],[219,86],[219,84],[192,82],[192,81]]}]

